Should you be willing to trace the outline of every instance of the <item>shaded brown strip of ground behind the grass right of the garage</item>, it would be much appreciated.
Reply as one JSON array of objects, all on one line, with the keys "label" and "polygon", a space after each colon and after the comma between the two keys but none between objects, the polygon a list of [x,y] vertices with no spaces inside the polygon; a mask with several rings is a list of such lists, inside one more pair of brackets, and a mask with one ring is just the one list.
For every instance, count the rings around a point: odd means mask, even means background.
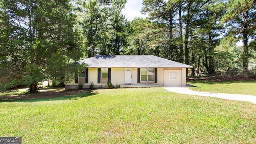
[{"label": "shaded brown strip of ground behind the grass right of the garage", "polygon": [[206,76],[199,78],[188,78],[188,81],[193,80],[209,80],[209,81],[238,81],[238,80],[256,80],[256,74],[252,75],[227,75],[227,76]]}]

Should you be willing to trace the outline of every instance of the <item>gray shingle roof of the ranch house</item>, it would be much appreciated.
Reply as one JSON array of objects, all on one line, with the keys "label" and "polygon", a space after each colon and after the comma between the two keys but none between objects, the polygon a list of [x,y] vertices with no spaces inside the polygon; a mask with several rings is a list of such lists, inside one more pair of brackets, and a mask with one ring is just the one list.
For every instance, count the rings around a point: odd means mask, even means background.
[{"label": "gray shingle roof of the ranch house", "polygon": [[153,55],[100,55],[78,61],[82,62],[91,68],[192,68]]}]

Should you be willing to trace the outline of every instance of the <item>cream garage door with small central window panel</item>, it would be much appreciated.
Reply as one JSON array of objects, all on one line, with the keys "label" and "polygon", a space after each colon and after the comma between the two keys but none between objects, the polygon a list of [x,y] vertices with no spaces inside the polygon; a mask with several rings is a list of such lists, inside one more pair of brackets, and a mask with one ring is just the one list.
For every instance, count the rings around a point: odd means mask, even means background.
[{"label": "cream garage door with small central window panel", "polygon": [[164,70],[164,86],[181,86],[181,70]]}]

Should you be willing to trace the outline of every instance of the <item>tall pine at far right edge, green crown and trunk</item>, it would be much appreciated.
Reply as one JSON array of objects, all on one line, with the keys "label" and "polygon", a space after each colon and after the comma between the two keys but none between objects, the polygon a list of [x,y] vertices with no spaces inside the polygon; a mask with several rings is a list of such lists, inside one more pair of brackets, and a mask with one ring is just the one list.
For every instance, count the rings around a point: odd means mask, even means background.
[{"label": "tall pine at far right edge, green crown and trunk", "polygon": [[243,71],[248,71],[250,57],[250,40],[255,39],[256,34],[256,2],[255,0],[228,0],[224,3],[227,8],[222,16],[222,22],[227,23],[229,36],[243,40]]}]

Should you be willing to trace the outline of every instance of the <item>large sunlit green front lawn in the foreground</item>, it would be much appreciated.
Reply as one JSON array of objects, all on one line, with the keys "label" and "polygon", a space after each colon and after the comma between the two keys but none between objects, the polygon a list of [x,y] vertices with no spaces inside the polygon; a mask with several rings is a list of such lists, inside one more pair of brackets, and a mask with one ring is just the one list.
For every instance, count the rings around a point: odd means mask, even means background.
[{"label": "large sunlit green front lawn in the foreground", "polygon": [[0,136],[34,143],[256,143],[256,105],[163,88],[1,102]]}]

